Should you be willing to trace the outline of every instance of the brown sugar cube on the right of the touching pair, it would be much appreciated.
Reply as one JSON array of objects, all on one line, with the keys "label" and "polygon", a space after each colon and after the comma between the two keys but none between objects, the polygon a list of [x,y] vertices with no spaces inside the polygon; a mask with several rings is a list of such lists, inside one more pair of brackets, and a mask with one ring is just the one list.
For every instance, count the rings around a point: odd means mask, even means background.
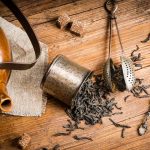
[{"label": "brown sugar cube on the right of the touching pair", "polygon": [[81,22],[79,21],[73,21],[70,31],[74,34],[76,34],[77,36],[83,36],[84,34],[84,26]]}]

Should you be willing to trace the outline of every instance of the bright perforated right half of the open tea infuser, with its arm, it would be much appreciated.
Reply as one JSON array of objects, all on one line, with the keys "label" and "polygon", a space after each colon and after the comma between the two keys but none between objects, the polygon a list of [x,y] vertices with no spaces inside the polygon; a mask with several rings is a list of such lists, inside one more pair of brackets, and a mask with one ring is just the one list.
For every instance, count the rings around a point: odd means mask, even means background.
[{"label": "bright perforated right half of the open tea infuser, with its arm", "polygon": [[[115,1],[114,0],[108,0],[105,4],[106,10],[110,14],[110,10],[107,7],[108,2],[112,2],[112,4],[114,5]],[[112,15],[112,13],[111,13],[111,15]],[[130,91],[130,90],[132,90],[132,88],[135,84],[135,73],[134,73],[133,63],[132,63],[131,59],[125,57],[124,48],[123,48],[123,45],[122,45],[122,42],[121,42],[120,32],[119,32],[119,28],[118,28],[117,19],[115,17],[115,13],[113,13],[112,19],[114,19],[114,21],[115,21],[117,36],[118,36],[119,44],[120,44],[120,47],[121,47],[120,59],[121,59],[123,77],[124,77],[124,81],[125,81],[125,84],[126,84],[126,89]]]}]

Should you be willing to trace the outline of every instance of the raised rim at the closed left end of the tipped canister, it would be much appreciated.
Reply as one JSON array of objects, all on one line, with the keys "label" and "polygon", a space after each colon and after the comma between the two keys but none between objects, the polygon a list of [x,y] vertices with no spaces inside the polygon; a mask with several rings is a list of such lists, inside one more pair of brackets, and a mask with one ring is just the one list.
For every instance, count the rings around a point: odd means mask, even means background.
[{"label": "raised rim at the closed left end of the tipped canister", "polygon": [[41,89],[43,89],[44,83],[45,83],[45,81],[46,81],[47,76],[49,75],[49,73],[50,73],[50,71],[51,71],[51,68],[53,67],[53,65],[55,64],[55,62],[58,60],[58,58],[60,58],[60,57],[62,57],[62,56],[63,56],[63,55],[61,55],[61,54],[57,55],[57,56],[54,58],[54,60],[49,64],[49,66],[48,66],[47,70],[45,71],[45,74],[44,74],[44,76],[43,76],[43,78],[42,78],[41,84],[40,84]]}]

